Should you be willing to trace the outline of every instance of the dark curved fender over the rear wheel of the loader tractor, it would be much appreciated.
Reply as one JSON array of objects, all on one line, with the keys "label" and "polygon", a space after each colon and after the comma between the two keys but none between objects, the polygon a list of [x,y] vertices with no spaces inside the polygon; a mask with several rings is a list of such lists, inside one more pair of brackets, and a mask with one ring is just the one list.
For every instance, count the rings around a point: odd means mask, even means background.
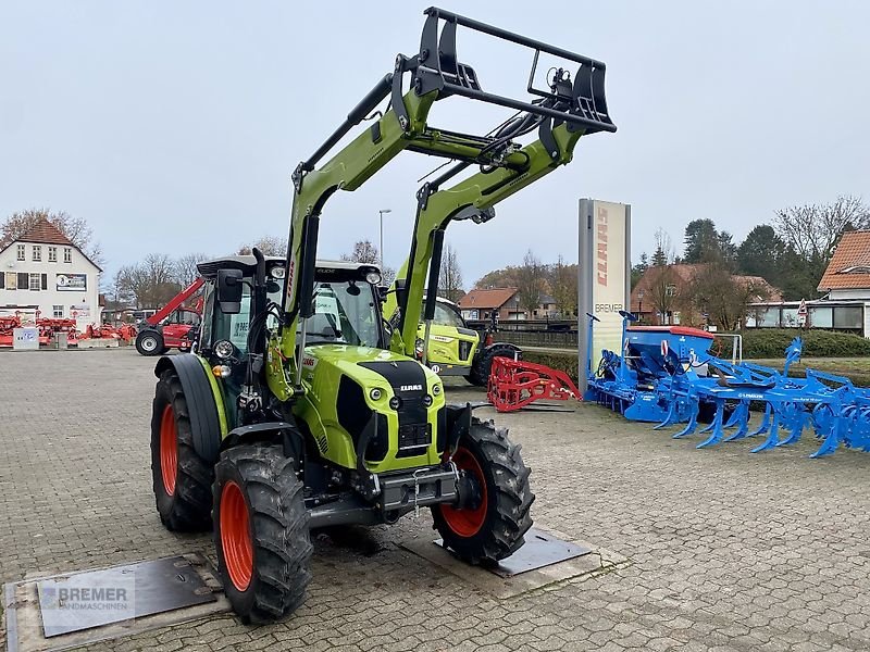
[{"label": "dark curved fender over the rear wheel of the loader tractor", "polygon": [[219,405],[223,409],[223,397],[219,402],[214,394],[220,389],[212,386],[202,361],[192,353],[162,356],[154,367],[154,376],[159,378],[166,369],[173,369],[182,381],[190,413],[194,449],[206,462],[216,463],[221,454],[221,436],[226,428],[225,417],[222,419],[219,414]]}]

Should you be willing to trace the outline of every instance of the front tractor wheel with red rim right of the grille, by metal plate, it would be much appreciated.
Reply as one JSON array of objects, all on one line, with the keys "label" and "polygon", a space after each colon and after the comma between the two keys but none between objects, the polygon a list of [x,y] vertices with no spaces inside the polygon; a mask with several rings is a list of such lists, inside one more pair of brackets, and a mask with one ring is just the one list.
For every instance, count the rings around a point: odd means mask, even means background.
[{"label": "front tractor wheel with red rim right of the grille, by metal plate", "polygon": [[470,454],[483,474],[484,487],[478,496],[484,500],[470,505],[471,514],[480,523],[478,529],[472,531],[474,525],[464,527],[467,510],[449,505],[432,507],[433,527],[449,548],[472,564],[494,564],[510,556],[522,548],[523,537],[532,527],[530,509],[535,501],[529,485],[532,472],[523,464],[520,448],[510,442],[506,429],[496,429],[493,422],[474,418],[469,434],[460,439],[453,462],[468,472],[469,465],[462,457]]}]

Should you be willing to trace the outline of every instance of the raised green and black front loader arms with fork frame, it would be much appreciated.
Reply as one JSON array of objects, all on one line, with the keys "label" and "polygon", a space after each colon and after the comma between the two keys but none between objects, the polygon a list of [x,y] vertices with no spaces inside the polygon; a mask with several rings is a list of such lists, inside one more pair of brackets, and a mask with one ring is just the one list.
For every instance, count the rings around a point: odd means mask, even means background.
[{"label": "raised green and black front loader arms with fork frame", "polygon": [[[326,141],[297,166],[293,175],[296,192],[287,252],[287,293],[283,302],[285,325],[281,341],[270,344],[271,351],[290,361],[290,368],[287,369],[289,376],[269,375],[269,387],[279,400],[291,399],[303,391],[300,362],[306,344],[304,321],[312,310],[311,278],[316,260],[320,214],[333,192],[339,189],[356,190],[406,149],[458,161],[457,165],[428,185],[425,198],[421,199],[421,203],[437,208],[438,216],[433,217],[433,224],[439,226],[431,228],[418,216],[419,228],[415,229],[412,244],[408,281],[412,286],[410,297],[420,305],[425,269],[433,260],[436,230],[443,229],[452,218],[492,217],[493,204],[568,163],[581,136],[617,129],[605,100],[604,63],[437,8],[430,8],[424,13],[426,21],[420,51],[413,57],[397,55],[393,73],[369,91]],[[523,101],[485,91],[476,71],[458,59],[459,27],[532,50],[526,90],[533,99]],[[549,89],[536,88],[534,79],[540,53],[564,60],[569,67],[576,66],[573,76],[567,67],[554,67],[547,79]],[[406,77],[409,78],[407,85],[403,84]],[[409,90],[406,91],[406,87]],[[427,122],[432,105],[448,97],[464,97],[506,106],[520,114],[486,135],[432,127]],[[377,106],[385,99],[388,99],[387,108],[381,113]],[[373,122],[320,165],[363,120]],[[514,141],[535,129],[538,131],[536,142],[521,148]],[[478,175],[465,179],[452,195],[445,191],[439,197],[436,192],[439,184],[474,164],[481,166]],[[433,265],[435,263],[439,261],[433,261]],[[413,287],[415,285],[420,288]],[[419,314],[409,316],[417,317]],[[297,346],[299,319],[302,319],[302,324]],[[410,326],[406,326],[406,329],[410,329]],[[402,335],[406,335],[405,329]],[[412,347],[413,338],[410,343],[405,342],[406,350]]]}]

